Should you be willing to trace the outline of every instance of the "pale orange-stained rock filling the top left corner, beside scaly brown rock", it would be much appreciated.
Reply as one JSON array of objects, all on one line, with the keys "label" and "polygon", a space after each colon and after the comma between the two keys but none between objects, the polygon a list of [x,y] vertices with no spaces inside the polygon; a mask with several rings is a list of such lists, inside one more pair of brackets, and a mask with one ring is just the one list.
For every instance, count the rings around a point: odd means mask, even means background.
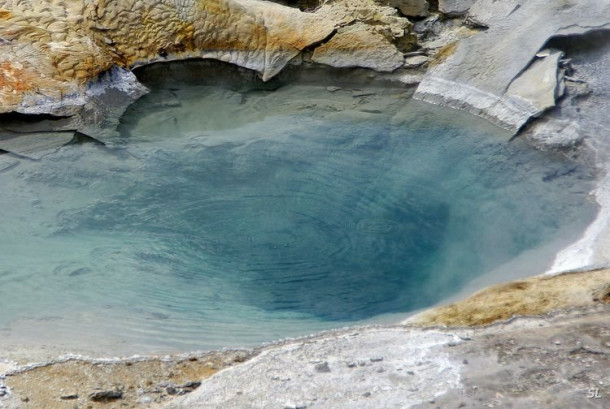
[{"label": "pale orange-stained rock filling the top left corner, beside scaly brown rock", "polygon": [[[79,84],[111,67],[94,41],[82,1],[0,1],[0,112],[82,104]],[[70,99],[74,101],[69,101]]]}]

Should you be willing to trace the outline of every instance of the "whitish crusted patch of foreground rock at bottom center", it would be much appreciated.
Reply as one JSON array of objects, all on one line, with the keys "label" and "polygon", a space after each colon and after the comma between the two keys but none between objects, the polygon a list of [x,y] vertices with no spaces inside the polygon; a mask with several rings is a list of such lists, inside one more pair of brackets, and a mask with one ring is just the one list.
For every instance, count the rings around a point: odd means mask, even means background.
[{"label": "whitish crusted patch of foreground rock at bottom center", "polygon": [[[251,361],[206,379],[196,391],[168,402],[166,408],[284,408],[300,403],[308,408],[409,407],[426,402],[459,382],[457,368],[440,349],[444,343],[455,340],[453,335],[413,332],[406,328],[371,328],[358,335],[352,335],[352,332],[291,341],[268,349]],[[391,345],[382,341],[384,339],[392,339]],[[355,358],[363,353],[366,359]],[[369,357],[381,356],[385,372],[379,373],[379,365],[371,364]],[[410,376],[407,383],[394,383],[392,373],[396,368],[413,366],[424,356],[430,358],[426,359],[418,375]],[[316,364],[328,365],[332,371],[303,370],[304,362],[309,362],[312,369]],[[365,365],[350,368],[346,362]],[[290,381],[273,381],[270,373],[290,378]],[[414,383],[424,382],[429,387],[422,388],[417,395],[408,391]],[[234,390],[243,393],[228,392]]]}]

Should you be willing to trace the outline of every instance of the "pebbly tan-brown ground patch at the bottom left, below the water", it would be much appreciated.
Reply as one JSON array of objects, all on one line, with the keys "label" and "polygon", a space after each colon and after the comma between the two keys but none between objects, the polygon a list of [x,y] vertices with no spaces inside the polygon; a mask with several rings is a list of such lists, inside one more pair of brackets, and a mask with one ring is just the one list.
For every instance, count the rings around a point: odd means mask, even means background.
[{"label": "pebbly tan-brown ground patch at the bottom left, below the water", "polygon": [[148,407],[190,393],[201,380],[243,362],[252,352],[123,362],[69,360],[6,377],[23,409]]}]

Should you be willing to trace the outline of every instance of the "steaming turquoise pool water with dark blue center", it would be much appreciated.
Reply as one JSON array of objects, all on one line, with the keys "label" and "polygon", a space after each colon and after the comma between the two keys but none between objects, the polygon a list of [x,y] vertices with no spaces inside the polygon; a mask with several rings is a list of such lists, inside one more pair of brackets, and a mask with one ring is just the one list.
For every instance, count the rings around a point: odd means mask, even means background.
[{"label": "steaming turquoise pool water with dark blue center", "polygon": [[369,322],[595,214],[585,169],[403,89],[155,87],[106,147],[0,173],[5,340],[207,349]]}]

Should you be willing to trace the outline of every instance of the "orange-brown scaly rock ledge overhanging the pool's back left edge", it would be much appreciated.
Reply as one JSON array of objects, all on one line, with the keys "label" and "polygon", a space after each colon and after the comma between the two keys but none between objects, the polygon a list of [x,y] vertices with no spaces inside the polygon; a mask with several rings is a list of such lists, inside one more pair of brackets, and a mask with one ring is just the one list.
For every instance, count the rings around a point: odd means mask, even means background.
[{"label": "orange-brown scaly rock ledge overhanging the pool's back left edge", "polygon": [[102,73],[175,59],[217,59],[267,80],[335,33],[314,61],[391,71],[403,62],[392,42],[409,26],[371,0],[315,14],[259,0],[2,0],[0,112],[74,115]]}]

